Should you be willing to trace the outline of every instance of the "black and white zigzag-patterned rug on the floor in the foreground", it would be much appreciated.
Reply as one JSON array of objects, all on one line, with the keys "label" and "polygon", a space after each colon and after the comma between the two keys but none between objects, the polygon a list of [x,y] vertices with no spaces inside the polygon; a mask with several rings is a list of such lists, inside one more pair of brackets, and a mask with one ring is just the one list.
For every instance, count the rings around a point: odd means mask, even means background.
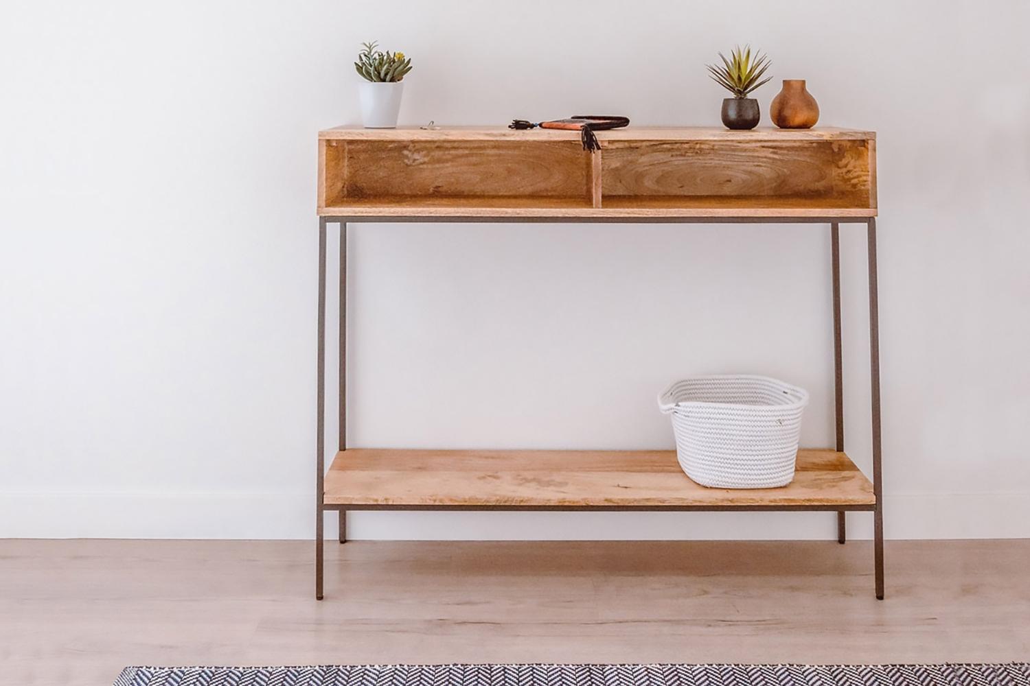
[{"label": "black and white zigzag-patterned rug on the floor in the foreground", "polygon": [[1030,686],[1030,664],[127,667],[114,686]]}]

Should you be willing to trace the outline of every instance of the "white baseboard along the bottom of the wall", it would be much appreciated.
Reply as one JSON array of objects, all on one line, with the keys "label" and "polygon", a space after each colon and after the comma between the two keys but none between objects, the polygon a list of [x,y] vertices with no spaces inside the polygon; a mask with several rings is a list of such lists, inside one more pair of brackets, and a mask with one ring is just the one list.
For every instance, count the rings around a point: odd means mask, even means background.
[{"label": "white baseboard along the bottom of the wall", "polygon": [[[891,539],[1030,538],[1030,494],[894,495]],[[2,494],[0,538],[305,539],[310,496],[282,494]],[[375,540],[830,539],[829,512],[352,512],[348,537]],[[872,516],[848,515],[849,537]],[[325,535],[336,537],[336,516]]]}]

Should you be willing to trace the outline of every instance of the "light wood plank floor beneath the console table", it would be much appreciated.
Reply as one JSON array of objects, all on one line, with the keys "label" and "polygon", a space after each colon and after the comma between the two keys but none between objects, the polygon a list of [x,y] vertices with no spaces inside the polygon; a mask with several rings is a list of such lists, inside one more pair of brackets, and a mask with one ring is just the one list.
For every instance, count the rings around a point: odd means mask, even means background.
[{"label": "light wood plank floor beneath the console table", "polygon": [[1030,540],[0,541],[0,681],[126,664],[1030,658]]}]

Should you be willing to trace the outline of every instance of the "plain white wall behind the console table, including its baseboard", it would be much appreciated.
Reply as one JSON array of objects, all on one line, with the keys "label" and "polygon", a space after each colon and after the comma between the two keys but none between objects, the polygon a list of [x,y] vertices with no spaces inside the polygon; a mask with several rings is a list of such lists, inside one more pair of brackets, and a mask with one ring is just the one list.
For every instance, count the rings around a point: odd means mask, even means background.
[{"label": "plain white wall behind the console table, including its baseboard", "polygon": [[[1028,26],[1023,0],[8,0],[0,536],[311,535],[315,133],[356,121],[372,38],[413,58],[408,123],[717,124],[703,64],[750,40],[778,79],[808,78],[821,123],[878,131],[887,534],[1030,536]],[[350,250],[353,445],[670,447],[656,393],[722,370],[810,389],[803,442],[831,440],[825,227],[363,224]],[[844,251],[848,448],[867,469],[859,227]],[[833,531],[825,513],[351,522]]]}]

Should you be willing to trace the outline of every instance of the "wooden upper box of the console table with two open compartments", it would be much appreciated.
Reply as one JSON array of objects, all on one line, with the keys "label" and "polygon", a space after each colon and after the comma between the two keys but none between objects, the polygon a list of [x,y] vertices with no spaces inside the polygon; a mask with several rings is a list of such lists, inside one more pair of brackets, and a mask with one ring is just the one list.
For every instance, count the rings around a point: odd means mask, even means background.
[{"label": "wooden upper box of the console table with two open compartments", "polygon": [[876,216],[874,135],[837,129],[576,132],[334,129],[332,217],[611,219]]}]

